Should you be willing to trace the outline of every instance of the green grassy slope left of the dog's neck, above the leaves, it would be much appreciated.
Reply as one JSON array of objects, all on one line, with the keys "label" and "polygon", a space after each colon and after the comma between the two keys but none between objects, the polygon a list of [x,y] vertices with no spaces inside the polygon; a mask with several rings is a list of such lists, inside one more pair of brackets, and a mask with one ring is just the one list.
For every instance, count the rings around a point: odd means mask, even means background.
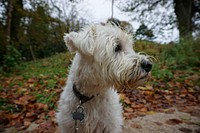
[{"label": "green grassy slope left of the dog's neck, above the leaves", "polygon": [[[37,60],[36,62],[25,62],[20,65],[20,71],[16,74],[23,73],[26,79],[30,77],[51,77],[52,80],[55,80],[56,76],[66,76],[71,58],[72,55],[70,53],[60,53],[52,57]],[[48,88],[54,85],[54,81],[48,81]]]}]

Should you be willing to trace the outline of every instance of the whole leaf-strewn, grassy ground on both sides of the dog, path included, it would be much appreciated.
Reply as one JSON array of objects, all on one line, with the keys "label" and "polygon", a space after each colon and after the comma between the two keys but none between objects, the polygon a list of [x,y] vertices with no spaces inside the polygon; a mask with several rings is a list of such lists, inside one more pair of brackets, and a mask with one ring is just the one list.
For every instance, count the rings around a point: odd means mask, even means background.
[{"label": "whole leaf-strewn, grassy ground on both sides of the dog, path included", "polygon": [[[69,64],[69,55],[59,54],[0,75],[0,132],[58,133],[55,113]],[[200,133],[199,81],[200,68],[155,64],[144,86],[119,93],[123,132]]]}]

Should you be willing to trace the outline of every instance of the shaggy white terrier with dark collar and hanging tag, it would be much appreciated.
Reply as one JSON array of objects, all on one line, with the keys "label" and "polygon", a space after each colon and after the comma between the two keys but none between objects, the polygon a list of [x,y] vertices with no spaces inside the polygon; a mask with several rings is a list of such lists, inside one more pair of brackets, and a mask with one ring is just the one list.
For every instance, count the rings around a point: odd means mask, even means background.
[{"label": "shaggy white terrier with dark collar and hanging tag", "polygon": [[122,107],[116,90],[144,83],[151,58],[132,49],[132,36],[111,24],[65,34],[76,52],[61,94],[57,121],[62,133],[120,133]]}]

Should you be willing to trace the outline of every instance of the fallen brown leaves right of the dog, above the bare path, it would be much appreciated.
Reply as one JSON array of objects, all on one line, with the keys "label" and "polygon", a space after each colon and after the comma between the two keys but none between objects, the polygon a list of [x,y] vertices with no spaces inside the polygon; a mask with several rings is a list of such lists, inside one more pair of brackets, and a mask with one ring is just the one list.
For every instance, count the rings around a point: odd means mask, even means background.
[{"label": "fallen brown leaves right of the dog, above the bare path", "polygon": [[[182,76],[181,72],[174,72],[174,77]],[[173,113],[173,106],[179,111],[200,116],[200,111],[192,106],[200,105],[200,88],[195,81],[200,79],[199,75],[190,75],[183,81],[163,81],[152,79],[143,87],[135,90],[125,90],[120,93],[121,102],[124,107],[125,119],[137,116],[154,114],[155,112]]]}]

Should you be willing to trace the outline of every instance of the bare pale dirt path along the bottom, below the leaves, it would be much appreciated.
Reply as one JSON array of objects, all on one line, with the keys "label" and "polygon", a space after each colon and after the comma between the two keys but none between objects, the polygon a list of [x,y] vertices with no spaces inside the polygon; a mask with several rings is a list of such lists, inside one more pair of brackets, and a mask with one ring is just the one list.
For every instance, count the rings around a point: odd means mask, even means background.
[{"label": "bare pale dirt path along the bottom, below the leaves", "polygon": [[[195,108],[195,115],[180,112],[176,108],[171,110],[125,120],[123,133],[200,133],[200,107]],[[8,128],[3,133],[31,133],[37,127],[37,124],[32,123],[25,131]]]}]

